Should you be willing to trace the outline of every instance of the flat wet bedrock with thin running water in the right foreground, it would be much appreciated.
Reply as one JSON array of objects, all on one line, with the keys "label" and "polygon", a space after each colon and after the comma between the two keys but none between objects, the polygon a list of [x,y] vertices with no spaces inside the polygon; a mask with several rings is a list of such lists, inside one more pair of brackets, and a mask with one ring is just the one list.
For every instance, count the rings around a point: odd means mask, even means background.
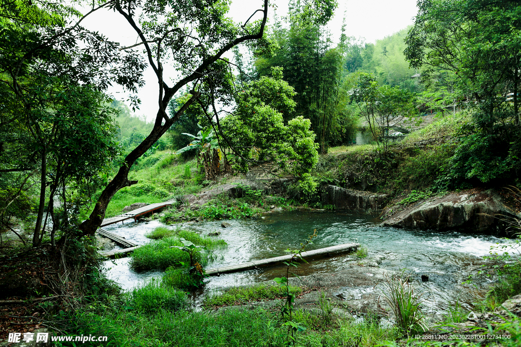
[{"label": "flat wet bedrock with thin running water in the right foreground", "polygon": [[[474,303],[485,298],[495,281],[491,273],[480,272],[486,270],[482,265],[491,264],[477,256],[440,254],[439,259],[432,261],[445,262],[445,266],[441,270],[438,268],[437,271],[427,272],[396,268],[394,264],[399,263],[401,256],[393,252],[373,254],[366,259],[351,256],[349,267],[342,271],[291,277],[290,285],[312,289],[295,299],[295,306],[304,310],[318,310],[321,292],[325,292],[327,300],[336,307],[337,314],[376,313],[382,319],[388,319],[392,314],[384,300],[384,293],[388,292],[386,283],[399,278],[420,295],[421,310],[428,323],[432,324],[441,321],[448,314],[449,307],[456,302],[465,310],[472,311]],[[428,280],[422,280],[422,276],[428,276]],[[469,276],[473,280],[467,283]],[[266,284],[272,285],[274,282],[267,281]],[[280,305],[280,299],[248,304],[265,309],[274,309]],[[512,305],[518,305],[521,312],[521,295],[519,302],[515,301]]]}]

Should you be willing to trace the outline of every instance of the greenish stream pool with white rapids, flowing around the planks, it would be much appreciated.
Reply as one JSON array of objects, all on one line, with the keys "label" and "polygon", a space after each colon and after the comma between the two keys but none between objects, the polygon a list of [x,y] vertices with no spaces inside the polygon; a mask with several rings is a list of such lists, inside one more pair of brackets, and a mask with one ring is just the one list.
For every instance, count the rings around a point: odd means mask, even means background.
[{"label": "greenish stream pool with white rapids, flowing around the planks", "polygon": [[[361,243],[369,250],[369,255],[384,254],[380,267],[396,271],[404,269],[421,271],[444,271],[454,263],[472,263],[477,257],[488,255],[491,247],[504,244],[505,240],[493,236],[478,236],[456,232],[420,232],[382,227],[374,217],[339,212],[292,211],[264,215],[257,220],[231,220],[228,228],[220,226],[221,221],[185,223],[184,229],[207,235],[220,232],[220,238],[228,243],[226,249],[216,252],[216,259],[207,268],[239,264],[251,260],[271,258],[287,254],[284,250],[300,248],[301,242],[313,234],[313,244],[306,250]],[[126,237],[139,244],[149,242],[144,234],[161,225],[150,223],[126,223],[105,227],[111,232]],[[353,255],[339,255],[332,258],[311,261],[301,266],[297,273],[309,275],[316,272],[333,272],[345,268],[353,261]],[[107,261],[109,278],[119,282],[123,289],[138,286],[148,278],[162,273],[135,273],[128,268],[129,258]],[[245,272],[211,277],[206,289],[215,290],[229,286],[247,285],[280,276],[281,267],[254,269]]]}]

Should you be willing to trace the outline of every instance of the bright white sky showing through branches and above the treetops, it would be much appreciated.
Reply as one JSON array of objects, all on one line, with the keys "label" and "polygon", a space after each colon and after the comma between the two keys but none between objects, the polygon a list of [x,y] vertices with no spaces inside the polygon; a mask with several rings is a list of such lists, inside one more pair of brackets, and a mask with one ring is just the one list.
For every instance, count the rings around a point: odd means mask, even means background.
[{"label": "bright white sky showing through branches and above the treetops", "polygon": [[[255,9],[261,8],[262,3],[262,0],[232,0],[230,15],[236,22],[244,22]],[[275,10],[279,18],[286,15],[288,0],[270,0],[270,3],[276,5]],[[375,42],[412,24],[417,12],[416,0],[338,0],[338,3],[335,15],[328,25],[334,40],[340,37],[344,16],[346,35],[362,37],[366,42]],[[270,7],[269,10],[272,17],[273,8]],[[261,13],[257,13],[256,17],[260,16]],[[86,18],[82,24],[91,30],[100,31],[110,40],[118,41],[122,45],[137,42],[137,34],[119,14],[114,12],[98,12]],[[174,76],[175,71],[170,71],[170,75]],[[135,113],[152,121],[158,109],[157,79],[151,69],[145,71],[144,78],[146,85],[139,92],[141,106]],[[110,88],[109,93],[117,99],[128,98],[118,87]]]}]

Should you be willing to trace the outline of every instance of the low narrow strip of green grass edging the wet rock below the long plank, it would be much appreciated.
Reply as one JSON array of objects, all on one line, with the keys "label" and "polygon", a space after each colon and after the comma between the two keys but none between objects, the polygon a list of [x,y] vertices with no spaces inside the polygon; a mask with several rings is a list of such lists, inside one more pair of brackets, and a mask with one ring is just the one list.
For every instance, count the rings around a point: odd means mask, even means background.
[{"label": "low narrow strip of green grass edging the wet rock below the long plank", "polygon": [[[302,293],[302,288],[290,286],[294,295]],[[270,286],[266,284],[252,287],[230,288],[224,293],[212,295],[204,299],[204,307],[240,305],[250,301],[273,300],[286,295],[286,287]]]}]

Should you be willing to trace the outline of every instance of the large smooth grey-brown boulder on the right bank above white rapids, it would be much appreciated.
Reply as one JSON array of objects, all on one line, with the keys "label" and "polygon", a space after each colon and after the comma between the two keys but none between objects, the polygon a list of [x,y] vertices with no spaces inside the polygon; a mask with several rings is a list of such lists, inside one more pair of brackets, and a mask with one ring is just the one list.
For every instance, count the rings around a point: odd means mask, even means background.
[{"label": "large smooth grey-brown boulder on the right bank above white rapids", "polygon": [[[391,208],[389,208],[391,209]],[[519,217],[493,189],[456,192],[420,201],[389,217],[382,224],[398,228],[451,230],[469,233],[502,233],[505,219]]]}]

